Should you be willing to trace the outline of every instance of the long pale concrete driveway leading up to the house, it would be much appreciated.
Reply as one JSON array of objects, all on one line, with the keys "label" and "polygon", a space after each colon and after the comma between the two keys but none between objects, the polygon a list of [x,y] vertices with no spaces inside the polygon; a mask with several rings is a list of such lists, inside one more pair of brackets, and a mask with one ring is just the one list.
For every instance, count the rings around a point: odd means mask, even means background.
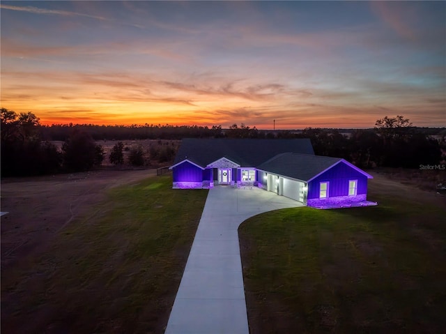
[{"label": "long pale concrete driveway leading up to the house", "polygon": [[249,334],[238,226],[299,202],[259,188],[209,190],[166,334]]}]

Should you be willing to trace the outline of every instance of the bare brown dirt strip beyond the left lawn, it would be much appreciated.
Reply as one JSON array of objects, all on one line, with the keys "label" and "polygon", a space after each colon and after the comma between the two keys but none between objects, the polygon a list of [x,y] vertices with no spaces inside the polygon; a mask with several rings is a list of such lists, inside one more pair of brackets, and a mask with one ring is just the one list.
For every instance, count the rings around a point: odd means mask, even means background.
[{"label": "bare brown dirt strip beyond the left lawn", "polygon": [[156,175],[155,169],[93,171],[1,181],[1,271],[26,265],[55,234],[105,198],[105,190]]}]

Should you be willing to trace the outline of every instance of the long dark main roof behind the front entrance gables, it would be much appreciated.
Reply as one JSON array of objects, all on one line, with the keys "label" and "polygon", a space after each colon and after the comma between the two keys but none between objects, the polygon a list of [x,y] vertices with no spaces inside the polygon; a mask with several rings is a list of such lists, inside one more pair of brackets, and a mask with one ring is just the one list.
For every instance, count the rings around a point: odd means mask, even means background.
[{"label": "long dark main roof behind the front entrance gables", "polygon": [[242,167],[256,167],[286,152],[314,155],[309,139],[183,139],[174,165],[187,159],[206,167],[224,157]]}]

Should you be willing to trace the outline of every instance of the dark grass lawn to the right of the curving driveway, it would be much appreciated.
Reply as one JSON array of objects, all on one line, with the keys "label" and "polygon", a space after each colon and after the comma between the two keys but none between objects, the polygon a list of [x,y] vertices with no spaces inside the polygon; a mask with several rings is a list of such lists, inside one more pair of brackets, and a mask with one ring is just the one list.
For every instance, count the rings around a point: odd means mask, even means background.
[{"label": "dark grass lawn to the right of the curving driveway", "polygon": [[251,333],[444,333],[444,199],[382,176],[369,188],[379,206],[240,226]]}]

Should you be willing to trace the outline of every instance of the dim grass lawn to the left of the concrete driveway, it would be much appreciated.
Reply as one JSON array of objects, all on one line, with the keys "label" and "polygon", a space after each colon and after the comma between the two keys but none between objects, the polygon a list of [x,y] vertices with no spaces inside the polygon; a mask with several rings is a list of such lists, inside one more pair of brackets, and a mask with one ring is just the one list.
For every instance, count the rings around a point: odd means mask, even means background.
[{"label": "dim grass lawn to the left of the concrete driveway", "polygon": [[108,190],[28,271],[3,271],[2,333],[163,333],[206,196],[169,176]]}]

